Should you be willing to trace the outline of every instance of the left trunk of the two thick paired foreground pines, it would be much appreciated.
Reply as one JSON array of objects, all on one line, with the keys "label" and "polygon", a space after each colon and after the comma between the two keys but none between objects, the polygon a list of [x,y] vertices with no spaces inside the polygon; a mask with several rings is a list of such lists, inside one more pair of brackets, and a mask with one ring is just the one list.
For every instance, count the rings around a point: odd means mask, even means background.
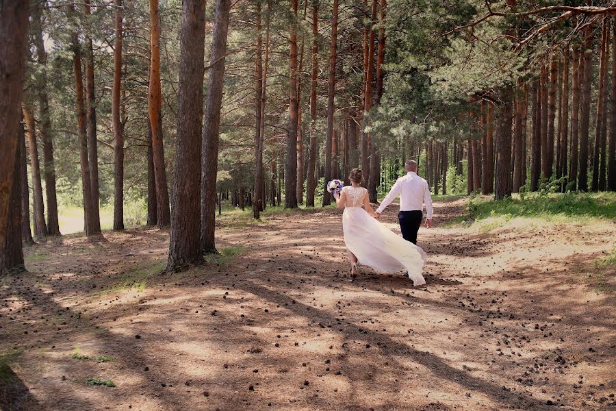
[{"label": "left trunk of the two thick paired foreground pines", "polygon": [[167,270],[203,260],[201,236],[201,113],[205,0],[182,2],[177,143]]}]

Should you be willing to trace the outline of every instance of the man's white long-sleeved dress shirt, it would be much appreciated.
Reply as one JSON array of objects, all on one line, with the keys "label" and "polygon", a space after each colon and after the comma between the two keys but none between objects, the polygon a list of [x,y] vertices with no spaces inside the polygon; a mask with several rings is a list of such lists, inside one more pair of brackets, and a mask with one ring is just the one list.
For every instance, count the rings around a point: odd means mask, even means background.
[{"label": "man's white long-sleeved dress shirt", "polygon": [[430,196],[430,188],[425,179],[418,176],[414,171],[410,171],[407,175],[400,177],[396,184],[389,190],[385,199],[378,206],[376,212],[381,214],[389,203],[394,201],[400,195],[400,211],[423,211],[424,203],[426,203],[426,219],[432,219],[432,197]]}]

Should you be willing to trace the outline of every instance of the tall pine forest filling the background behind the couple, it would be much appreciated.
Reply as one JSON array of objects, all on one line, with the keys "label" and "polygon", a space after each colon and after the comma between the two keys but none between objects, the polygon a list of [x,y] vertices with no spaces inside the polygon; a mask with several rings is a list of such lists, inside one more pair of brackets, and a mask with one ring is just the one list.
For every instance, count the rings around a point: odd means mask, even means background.
[{"label": "tall pine forest filling the background behind the couple", "polygon": [[216,252],[216,203],[327,206],[325,182],[357,166],[374,202],[409,158],[435,194],[614,191],[615,15],[614,0],[0,0],[0,271],[75,206],[88,236],[101,209],[121,230],[146,208],[181,269]]}]

